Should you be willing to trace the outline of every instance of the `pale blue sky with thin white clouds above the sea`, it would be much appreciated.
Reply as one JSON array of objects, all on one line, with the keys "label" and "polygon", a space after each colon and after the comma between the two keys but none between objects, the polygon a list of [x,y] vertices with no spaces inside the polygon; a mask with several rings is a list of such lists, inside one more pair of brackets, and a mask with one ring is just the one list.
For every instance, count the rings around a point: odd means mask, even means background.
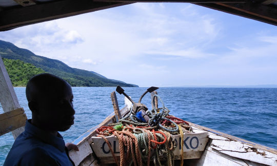
[{"label": "pale blue sky with thin white clouds above the sea", "polygon": [[0,39],[140,87],[277,85],[277,27],[188,3],[136,3]]}]

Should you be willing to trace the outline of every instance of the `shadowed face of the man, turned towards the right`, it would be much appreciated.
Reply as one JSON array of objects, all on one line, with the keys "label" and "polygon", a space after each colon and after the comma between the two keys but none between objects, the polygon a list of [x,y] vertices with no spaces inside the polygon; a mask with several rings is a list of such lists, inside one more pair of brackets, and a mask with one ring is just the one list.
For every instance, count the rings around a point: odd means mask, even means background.
[{"label": "shadowed face of the man, turned towards the right", "polygon": [[72,89],[68,84],[51,88],[39,104],[39,121],[45,130],[66,131],[74,124]]}]

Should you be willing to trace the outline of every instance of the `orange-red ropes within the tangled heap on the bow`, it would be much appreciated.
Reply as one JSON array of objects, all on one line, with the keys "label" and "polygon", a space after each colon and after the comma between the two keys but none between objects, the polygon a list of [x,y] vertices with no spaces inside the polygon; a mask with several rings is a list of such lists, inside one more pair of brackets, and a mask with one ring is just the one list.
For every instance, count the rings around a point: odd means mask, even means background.
[{"label": "orange-red ropes within the tangled heap on the bow", "polygon": [[[180,123],[182,125],[184,123],[189,124],[185,120],[174,117],[174,116],[166,116],[166,117],[168,119],[176,122],[177,124],[180,124]],[[162,125],[170,127],[172,125],[172,123],[169,120],[164,120],[162,122]],[[138,128],[140,131],[138,131]],[[151,129],[152,129],[152,131],[151,131]],[[180,129],[182,130],[182,128],[179,126],[179,131],[180,131]],[[167,153],[168,153],[168,150],[169,151],[173,150],[173,138],[171,138],[172,135],[170,133],[164,132],[162,130],[155,131],[153,128],[150,128],[149,126],[148,127],[146,127],[146,126],[136,127],[136,126],[133,126],[132,124],[129,124],[129,125],[125,124],[125,128],[122,131],[117,131],[117,130],[113,129],[113,126],[102,126],[98,129],[96,129],[96,132],[98,133],[97,136],[102,137],[106,141],[116,164],[120,165],[120,166],[129,165],[131,161],[133,161],[134,166],[142,166],[143,165],[140,146],[138,145],[138,140],[135,135],[137,132],[138,133],[140,133],[140,132],[147,133],[147,137],[148,137],[147,166],[150,165],[151,148],[156,149],[158,145],[165,144]],[[157,133],[159,133],[159,135],[157,135]],[[182,131],[180,131],[180,134],[181,133],[182,133]],[[115,135],[118,138],[119,149],[120,149],[120,161],[117,161],[118,158],[116,158],[109,141],[105,138],[105,136],[109,136],[111,134]],[[161,141],[163,138],[160,136],[160,134],[164,137],[163,141]],[[160,138],[158,139],[157,136],[161,137],[161,139]],[[145,135],[145,137],[146,137],[146,135]],[[141,139],[140,137],[138,137],[138,138]],[[161,141],[161,142],[159,142],[159,141]],[[141,140],[140,140],[140,142],[141,142]],[[144,140],[144,142],[145,142],[145,140]],[[146,143],[147,142],[145,142],[145,144]],[[157,152],[158,150],[156,149],[155,151]],[[182,151],[181,151],[181,153],[182,153]],[[170,157],[170,156],[168,156],[168,157]],[[183,159],[182,154],[181,154],[181,159]]]}]

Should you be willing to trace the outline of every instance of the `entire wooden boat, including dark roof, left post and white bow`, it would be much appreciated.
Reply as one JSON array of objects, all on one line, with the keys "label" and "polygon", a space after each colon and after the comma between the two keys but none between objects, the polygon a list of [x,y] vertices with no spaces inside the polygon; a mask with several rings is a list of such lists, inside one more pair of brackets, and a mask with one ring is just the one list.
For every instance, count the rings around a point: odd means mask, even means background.
[{"label": "entire wooden boat, including dark roof, left post and white bow", "polygon": [[[7,8],[0,10],[0,31],[10,30],[29,24],[44,22],[97,10],[128,5],[136,2],[153,2],[153,1],[125,1],[125,0],[98,0],[98,1],[5,1],[9,4]],[[276,1],[159,1],[159,2],[189,2],[196,5],[240,15],[243,17],[259,20],[272,25],[277,25],[277,8]],[[4,5],[6,5],[4,4]],[[20,6],[18,6],[18,4]],[[67,6],[68,8],[64,8]],[[61,10],[63,9],[63,10]],[[42,13],[41,11],[46,11]],[[18,15],[17,13],[22,13]],[[16,17],[16,19],[15,19]],[[19,105],[16,94],[12,87],[9,75],[5,69],[4,63],[0,58],[0,101],[4,114],[0,114],[0,135],[12,132],[16,138],[24,131],[25,121],[27,119],[23,108]],[[154,100],[155,94],[151,92]],[[157,98],[157,97],[156,97]],[[98,126],[88,130],[82,136],[78,137],[75,143],[80,151],[70,151],[69,155],[75,165],[114,165],[115,158],[121,159],[125,151],[119,150],[117,137],[109,135],[99,137],[101,127],[119,122],[122,118],[132,112],[132,102],[126,96],[125,106],[119,109],[115,92],[111,93],[114,112],[110,114]],[[157,103],[156,101],[154,103]],[[157,108],[157,106],[153,107]],[[146,111],[146,110],[145,110]],[[250,142],[238,137],[234,137],[219,131],[215,131],[192,122],[188,123],[189,132],[173,135],[179,143],[179,147],[173,151],[174,164],[185,165],[277,165],[277,150]],[[175,126],[176,127],[176,126]],[[181,128],[182,129],[182,128]],[[161,133],[160,133],[161,134]],[[156,134],[159,135],[159,134]],[[161,135],[160,135],[161,136]],[[163,137],[163,136],[162,136]],[[107,142],[111,142],[108,148]],[[163,137],[165,140],[165,137]],[[180,140],[181,139],[181,140]],[[173,139],[172,139],[173,140]],[[180,143],[182,142],[182,143]],[[151,143],[153,147],[157,143]],[[149,145],[149,144],[148,144]],[[153,149],[151,147],[151,149]],[[183,148],[182,148],[183,147]],[[127,147],[128,149],[128,147]],[[182,151],[181,151],[182,149]],[[102,152],[101,152],[102,151]],[[111,153],[114,152],[114,157]],[[123,152],[123,153],[120,153]],[[119,152],[119,153],[118,153]],[[152,153],[153,152],[153,153]],[[150,157],[155,156],[155,150],[152,150]],[[138,152],[139,153],[139,152]],[[148,153],[149,154],[149,153]],[[171,157],[172,157],[171,156]],[[161,158],[162,162],[167,162],[167,158]],[[150,159],[151,164],[155,162]],[[118,163],[118,162],[117,162]],[[154,163],[156,164],[156,162]]]}]

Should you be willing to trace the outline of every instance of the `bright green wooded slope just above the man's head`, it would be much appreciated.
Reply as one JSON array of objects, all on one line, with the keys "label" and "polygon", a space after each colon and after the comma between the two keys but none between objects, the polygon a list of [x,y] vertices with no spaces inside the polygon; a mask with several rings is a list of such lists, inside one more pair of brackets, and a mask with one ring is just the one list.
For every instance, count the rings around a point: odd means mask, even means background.
[{"label": "bright green wooded slope just above the man's head", "polygon": [[45,73],[41,68],[24,63],[22,60],[2,59],[14,87],[25,87],[31,77],[36,74]]}]

